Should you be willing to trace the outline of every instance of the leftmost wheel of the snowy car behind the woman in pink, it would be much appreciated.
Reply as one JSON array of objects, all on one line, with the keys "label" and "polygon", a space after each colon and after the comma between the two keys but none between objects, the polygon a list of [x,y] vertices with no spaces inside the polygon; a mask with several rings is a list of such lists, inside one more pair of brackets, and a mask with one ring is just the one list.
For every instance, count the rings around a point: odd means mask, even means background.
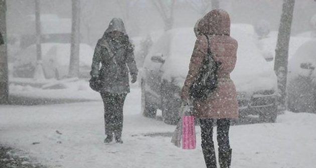
[{"label": "leftmost wheel of the snowy car behind the woman in pink", "polygon": [[157,112],[157,105],[148,101],[145,91],[145,81],[141,80],[141,111],[142,115],[149,118],[154,118]]}]

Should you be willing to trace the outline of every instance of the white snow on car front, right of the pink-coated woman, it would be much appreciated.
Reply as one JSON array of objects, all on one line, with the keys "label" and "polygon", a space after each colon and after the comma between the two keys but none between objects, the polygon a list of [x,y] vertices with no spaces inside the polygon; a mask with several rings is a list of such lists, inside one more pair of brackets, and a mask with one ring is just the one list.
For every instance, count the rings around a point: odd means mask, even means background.
[{"label": "white snow on car front, right of the pink-coated woman", "polygon": [[252,36],[238,28],[231,30],[231,36],[238,41],[237,62],[231,73],[237,91],[276,89],[277,78],[273,68],[263,58],[254,44]]}]

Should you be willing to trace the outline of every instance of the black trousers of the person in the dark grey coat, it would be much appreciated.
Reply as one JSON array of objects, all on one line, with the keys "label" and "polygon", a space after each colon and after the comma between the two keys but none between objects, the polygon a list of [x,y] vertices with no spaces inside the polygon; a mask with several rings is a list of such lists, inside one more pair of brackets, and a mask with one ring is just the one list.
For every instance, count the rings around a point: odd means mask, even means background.
[{"label": "black trousers of the person in the dark grey coat", "polygon": [[101,92],[104,104],[104,128],[106,135],[120,137],[123,129],[123,106],[127,93]]}]

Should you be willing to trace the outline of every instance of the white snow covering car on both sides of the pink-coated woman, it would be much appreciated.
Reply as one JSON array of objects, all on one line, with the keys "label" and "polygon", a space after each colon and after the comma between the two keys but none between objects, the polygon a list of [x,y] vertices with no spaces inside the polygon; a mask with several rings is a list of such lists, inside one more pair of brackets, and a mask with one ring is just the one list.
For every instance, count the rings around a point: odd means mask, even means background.
[{"label": "white snow covering car on both sides of the pink-coated woman", "polygon": [[[237,91],[276,89],[276,75],[255,46],[253,38],[238,28],[232,29],[231,34],[239,43],[236,67],[231,73]],[[170,56],[166,56],[166,62],[162,67],[163,78],[182,87],[189,70],[196,36],[191,27],[176,28],[166,32],[156,44],[169,43],[168,41],[162,42],[168,40],[166,35],[170,37],[171,44],[169,51],[165,52]],[[160,46],[156,44],[153,45],[152,51],[158,52],[157,48]]]}]

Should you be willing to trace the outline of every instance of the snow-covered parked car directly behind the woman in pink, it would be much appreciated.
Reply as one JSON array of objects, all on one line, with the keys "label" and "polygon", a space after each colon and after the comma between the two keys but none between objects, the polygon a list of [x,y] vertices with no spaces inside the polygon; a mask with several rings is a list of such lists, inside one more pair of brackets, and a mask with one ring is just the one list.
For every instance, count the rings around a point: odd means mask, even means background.
[{"label": "snow-covered parked car directly behind the woman in pink", "polygon": [[[274,122],[276,113],[276,75],[265,61],[253,38],[245,29],[233,26],[232,37],[238,40],[237,63],[231,78],[236,85],[240,116],[259,115]],[[192,27],[165,32],[144,61],[141,74],[142,113],[154,117],[162,110],[164,122],[175,124],[181,106],[184,84],[196,36]]]}]

